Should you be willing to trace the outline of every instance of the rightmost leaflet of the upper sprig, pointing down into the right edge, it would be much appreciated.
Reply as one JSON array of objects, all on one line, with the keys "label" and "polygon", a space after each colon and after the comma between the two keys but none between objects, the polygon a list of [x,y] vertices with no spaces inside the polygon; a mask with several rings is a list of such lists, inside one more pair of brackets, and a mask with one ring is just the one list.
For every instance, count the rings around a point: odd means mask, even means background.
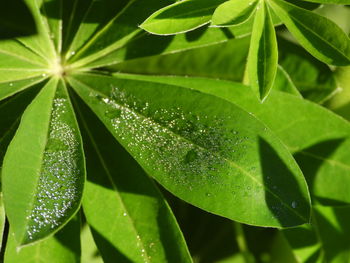
[{"label": "rightmost leaflet of the upper sprig, pointing down into the right edge", "polygon": [[268,3],[314,57],[331,65],[350,64],[350,39],[334,22],[282,0],[269,0]]}]

